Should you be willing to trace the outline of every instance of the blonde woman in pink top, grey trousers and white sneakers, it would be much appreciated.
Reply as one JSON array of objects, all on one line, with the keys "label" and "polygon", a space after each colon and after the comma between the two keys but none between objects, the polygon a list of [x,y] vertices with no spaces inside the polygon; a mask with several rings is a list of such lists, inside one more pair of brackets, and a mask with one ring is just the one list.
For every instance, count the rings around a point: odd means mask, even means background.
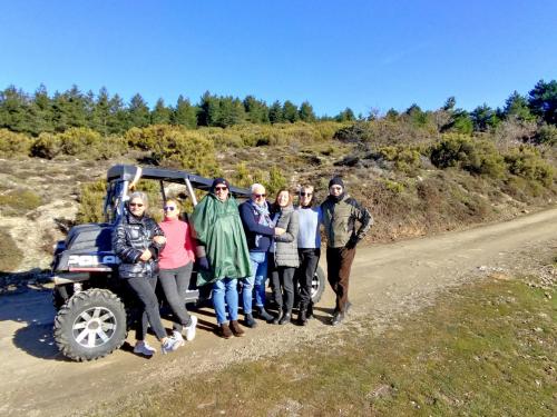
[{"label": "blonde woman in pink top, grey trousers and white sneakers", "polygon": [[164,220],[158,225],[166,236],[166,245],[158,260],[159,282],[174,315],[173,337],[184,345],[195,338],[197,317],[188,314],[185,305],[186,291],[194,266],[194,242],[189,225],[179,219],[179,206],[175,199],[168,199],[164,206]]}]

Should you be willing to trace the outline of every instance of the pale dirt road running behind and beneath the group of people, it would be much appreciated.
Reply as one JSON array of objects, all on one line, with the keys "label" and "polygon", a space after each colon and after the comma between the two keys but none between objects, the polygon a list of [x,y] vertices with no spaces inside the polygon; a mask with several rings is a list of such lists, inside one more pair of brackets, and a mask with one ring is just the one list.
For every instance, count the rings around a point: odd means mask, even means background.
[{"label": "pale dirt road running behind and beneath the group of people", "polygon": [[[359,248],[350,290],[354,307],[345,326],[361,319],[388,324],[395,315],[428,304],[443,288],[494,269],[519,270],[520,256],[556,245],[557,209],[551,209],[467,231]],[[286,346],[294,348],[342,330],[326,325],[332,300],[328,288],[317,319],[305,328],[261,322],[247,329],[246,337],[231,340],[217,338],[212,311],[201,310],[196,340],[173,355],[144,359],[123,349],[98,361],[76,364],[65,360],[53,345],[53,309],[47,289],[3,295],[0,416],[81,414],[185,374],[280,355]]]}]

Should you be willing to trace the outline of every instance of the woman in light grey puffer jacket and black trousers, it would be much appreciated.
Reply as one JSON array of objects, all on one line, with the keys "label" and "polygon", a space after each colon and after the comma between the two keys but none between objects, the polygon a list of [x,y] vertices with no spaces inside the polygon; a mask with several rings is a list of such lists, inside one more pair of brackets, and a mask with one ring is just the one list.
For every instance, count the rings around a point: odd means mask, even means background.
[{"label": "woman in light grey puffer jacket and black trousers", "polygon": [[278,315],[273,319],[275,325],[286,325],[292,319],[294,307],[294,272],[300,265],[297,256],[297,212],[292,207],[292,193],[287,189],[277,192],[273,209],[273,222],[285,230],[275,235],[270,249],[271,280],[273,295],[278,307]]}]

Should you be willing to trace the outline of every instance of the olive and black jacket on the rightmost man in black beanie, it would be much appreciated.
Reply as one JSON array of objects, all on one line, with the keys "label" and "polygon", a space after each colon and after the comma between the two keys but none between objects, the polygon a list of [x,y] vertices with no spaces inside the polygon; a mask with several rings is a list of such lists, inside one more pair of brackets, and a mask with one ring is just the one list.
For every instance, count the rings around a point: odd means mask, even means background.
[{"label": "olive and black jacket on the rightmost man in black beanie", "polygon": [[[345,195],[340,201],[328,198],[321,205],[328,247],[342,248],[352,240],[353,245],[363,239],[373,225],[373,217],[354,198]],[[355,229],[356,220],[361,224]]]}]

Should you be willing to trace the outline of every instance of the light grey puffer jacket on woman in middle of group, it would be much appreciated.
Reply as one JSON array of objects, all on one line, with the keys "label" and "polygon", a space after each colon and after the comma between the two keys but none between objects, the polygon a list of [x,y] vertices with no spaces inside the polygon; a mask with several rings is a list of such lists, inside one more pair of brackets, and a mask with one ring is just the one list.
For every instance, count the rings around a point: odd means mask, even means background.
[{"label": "light grey puffer jacket on woman in middle of group", "polygon": [[275,236],[275,264],[278,267],[297,268],[300,266],[300,256],[297,255],[299,215],[292,206],[283,207],[280,211],[276,227],[286,231],[281,236]]}]

